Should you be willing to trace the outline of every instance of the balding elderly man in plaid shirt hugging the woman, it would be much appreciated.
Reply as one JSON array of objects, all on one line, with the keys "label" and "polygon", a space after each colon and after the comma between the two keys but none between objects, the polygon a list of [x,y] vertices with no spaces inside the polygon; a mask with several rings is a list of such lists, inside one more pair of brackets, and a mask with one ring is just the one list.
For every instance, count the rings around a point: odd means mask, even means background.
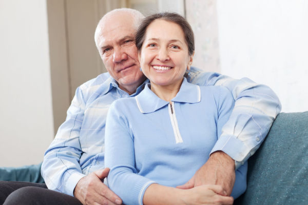
[{"label": "balding elderly man in plaid shirt hugging the woman", "polygon": [[[67,118],[45,153],[42,175],[49,189],[41,184],[6,183],[10,189],[7,194],[13,193],[5,204],[122,203],[103,183],[109,172],[104,168],[105,120],[115,99],[137,95],[148,81],[139,70],[134,44],[134,33],[142,18],[136,10],[116,9],[100,20],[94,38],[108,73],[87,81],[76,90]],[[264,140],[280,112],[279,100],[271,89],[246,78],[235,80],[191,68],[187,79],[199,85],[225,86],[236,103],[209,160],[178,188],[216,184],[223,188],[219,194],[229,195],[235,169],[253,155]]]}]

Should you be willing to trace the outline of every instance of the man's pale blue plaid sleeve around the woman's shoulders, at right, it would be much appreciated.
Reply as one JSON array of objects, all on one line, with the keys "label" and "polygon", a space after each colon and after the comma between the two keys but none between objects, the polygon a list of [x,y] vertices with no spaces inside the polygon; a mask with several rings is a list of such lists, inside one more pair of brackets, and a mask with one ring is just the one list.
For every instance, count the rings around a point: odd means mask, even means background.
[{"label": "man's pale blue plaid sleeve around the woman's shoulders, at right", "polygon": [[277,95],[251,79],[233,79],[196,68],[191,68],[187,80],[201,86],[224,86],[232,93],[234,109],[211,153],[225,152],[236,161],[237,169],[260,147],[279,114],[281,105]]}]

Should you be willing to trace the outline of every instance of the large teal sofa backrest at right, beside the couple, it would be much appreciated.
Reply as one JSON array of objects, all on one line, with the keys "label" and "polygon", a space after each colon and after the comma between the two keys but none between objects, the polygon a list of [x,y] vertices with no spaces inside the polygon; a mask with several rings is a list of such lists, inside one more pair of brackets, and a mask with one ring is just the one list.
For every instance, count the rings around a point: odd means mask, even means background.
[{"label": "large teal sofa backrest at right, beside the couple", "polygon": [[281,113],[248,160],[247,190],[234,204],[308,204],[308,112]]}]

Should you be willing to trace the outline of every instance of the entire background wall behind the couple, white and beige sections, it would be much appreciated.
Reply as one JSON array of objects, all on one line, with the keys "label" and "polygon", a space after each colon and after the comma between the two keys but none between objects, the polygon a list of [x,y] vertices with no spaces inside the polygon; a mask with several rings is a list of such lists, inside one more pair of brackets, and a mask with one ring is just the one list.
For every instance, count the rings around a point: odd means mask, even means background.
[{"label": "entire background wall behind the couple, white and beige sections", "polygon": [[42,161],[76,87],[106,71],[94,30],[121,7],[186,16],[194,66],[270,86],[284,112],[307,110],[305,0],[0,0],[0,166]]}]

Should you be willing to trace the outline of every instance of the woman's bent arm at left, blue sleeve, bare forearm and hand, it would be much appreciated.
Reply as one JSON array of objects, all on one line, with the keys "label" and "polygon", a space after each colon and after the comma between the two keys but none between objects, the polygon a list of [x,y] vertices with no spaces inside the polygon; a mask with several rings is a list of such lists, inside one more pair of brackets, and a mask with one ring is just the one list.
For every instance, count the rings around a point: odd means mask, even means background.
[{"label": "woman's bent arm at left, blue sleeve, bare forearm and hand", "polygon": [[[181,190],[158,185],[137,174],[134,139],[123,102],[115,101],[109,109],[105,134],[105,166],[110,189],[129,204],[232,204],[232,197],[224,197],[220,186],[200,186]],[[127,103],[127,101],[125,101]],[[131,107],[129,107],[131,110]],[[163,173],[162,173],[163,174]]]}]

